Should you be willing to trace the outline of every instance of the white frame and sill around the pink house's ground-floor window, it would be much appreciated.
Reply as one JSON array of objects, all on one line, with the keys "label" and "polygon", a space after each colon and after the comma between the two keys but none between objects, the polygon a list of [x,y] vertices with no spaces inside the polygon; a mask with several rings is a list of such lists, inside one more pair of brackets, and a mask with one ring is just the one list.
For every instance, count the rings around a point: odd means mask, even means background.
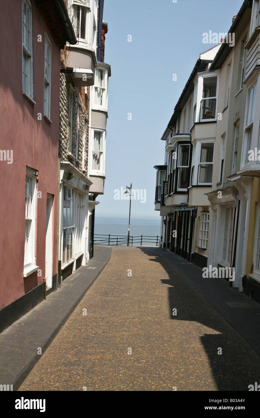
[{"label": "white frame and sill around the pink house's ground-floor window", "polygon": [[[27,181],[31,182],[31,202],[28,206],[28,196],[27,196]],[[25,177],[25,240],[26,240],[26,223],[30,222],[30,232],[28,234],[28,245],[27,253],[28,257],[25,258],[24,253],[24,277],[26,277],[29,272],[35,266],[35,231],[36,231],[36,196],[37,196],[37,186],[36,186],[36,174],[35,171],[26,168],[26,177]],[[27,200],[27,205],[26,205]],[[26,207],[29,210],[26,211]],[[29,215],[29,216],[26,216]],[[35,271],[35,270],[33,270]],[[33,273],[31,271],[31,273]]]}]

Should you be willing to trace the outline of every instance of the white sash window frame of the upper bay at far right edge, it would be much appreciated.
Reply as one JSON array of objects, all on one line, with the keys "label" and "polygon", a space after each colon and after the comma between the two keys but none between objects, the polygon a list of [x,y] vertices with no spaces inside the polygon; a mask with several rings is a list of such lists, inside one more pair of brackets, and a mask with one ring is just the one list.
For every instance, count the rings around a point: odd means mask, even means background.
[{"label": "white sash window frame of the upper bay at far right edge", "polygon": [[[250,92],[253,91],[253,97],[252,97],[252,104],[250,104]],[[243,152],[242,152],[242,158],[241,158],[241,164],[240,169],[243,167],[247,167],[250,165],[250,161],[248,160],[248,150],[252,149],[252,138],[253,138],[253,127],[254,127],[254,120],[255,120],[255,104],[256,104],[256,98],[257,98],[257,81],[255,81],[250,88],[247,90],[247,105],[246,105],[246,111],[245,111],[245,122],[244,122],[244,138],[243,138]],[[251,117],[250,122],[248,123],[248,113],[249,113],[249,107],[251,107]],[[253,112],[252,112],[253,111]],[[251,140],[250,140],[250,146],[248,147],[248,134],[251,130]],[[248,148],[248,150],[247,150]]]}]

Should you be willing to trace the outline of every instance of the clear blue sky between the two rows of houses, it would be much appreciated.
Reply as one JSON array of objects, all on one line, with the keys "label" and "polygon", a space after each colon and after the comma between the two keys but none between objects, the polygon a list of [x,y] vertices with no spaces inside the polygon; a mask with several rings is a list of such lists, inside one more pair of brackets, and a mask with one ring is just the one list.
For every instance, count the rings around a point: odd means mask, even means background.
[{"label": "clear blue sky between the two rows of houses", "polygon": [[[160,140],[199,53],[214,44],[202,33],[227,32],[242,0],[105,0],[108,22],[105,62],[111,64],[104,195],[99,214],[129,212],[129,201],[115,200],[114,189],[146,189],[146,203],[132,201],[136,216],[154,212],[156,170],[164,163]],[[128,35],[132,42],[128,42]],[[172,81],[172,74],[177,81]],[[132,120],[127,120],[128,113]]]}]

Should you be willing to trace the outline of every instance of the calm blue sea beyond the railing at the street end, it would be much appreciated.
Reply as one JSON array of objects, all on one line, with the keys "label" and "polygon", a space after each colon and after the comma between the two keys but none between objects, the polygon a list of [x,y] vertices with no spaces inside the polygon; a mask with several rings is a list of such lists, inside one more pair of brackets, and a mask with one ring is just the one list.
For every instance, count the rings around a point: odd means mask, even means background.
[{"label": "calm blue sea beyond the railing at the street end", "polygon": [[[108,216],[108,215],[95,215],[95,240],[100,239],[96,237],[97,234],[101,235],[124,235],[128,234],[128,216]],[[156,236],[160,234],[160,217],[134,217],[131,216],[130,220],[130,237],[133,236],[153,236],[156,241]],[[112,238],[112,237],[111,237]],[[116,237],[114,237],[115,239]],[[121,238],[121,242],[125,242],[124,238]],[[115,240],[116,243],[116,240]],[[130,242],[131,245],[131,242]],[[140,242],[136,242],[133,245],[140,245]],[[147,242],[143,240],[143,245],[156,245],[156,242]]]}]

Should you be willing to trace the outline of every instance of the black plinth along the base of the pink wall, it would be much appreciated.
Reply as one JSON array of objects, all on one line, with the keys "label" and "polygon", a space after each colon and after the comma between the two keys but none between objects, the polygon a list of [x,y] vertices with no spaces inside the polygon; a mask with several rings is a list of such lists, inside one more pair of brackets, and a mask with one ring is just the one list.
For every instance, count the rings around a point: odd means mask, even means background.
[{"label": "black plinth along the base of the pink wall", "polygon": [[0,332],[44,300],[44,283],[0,309]]}]

